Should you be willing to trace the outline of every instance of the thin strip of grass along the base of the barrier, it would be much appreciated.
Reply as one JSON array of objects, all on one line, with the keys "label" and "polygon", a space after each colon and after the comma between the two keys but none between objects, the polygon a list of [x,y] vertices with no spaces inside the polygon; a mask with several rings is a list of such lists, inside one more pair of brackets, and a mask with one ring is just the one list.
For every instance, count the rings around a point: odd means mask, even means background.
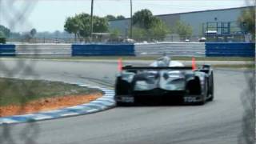
[{"label": "thin strip of grass along the base of the barrier", "polygon": [[[122,58],[123,60],[155,60],[161,56],[78,56],[78,57],[51,57],[51,56],[18,56],[17,58],[34,58],[34,59],[58,59],[58,60],[116,60]],[[173,60],[190,61],[191,57],[171,57]],[[254,61],[254,58],[245,57],[198,57],[197,61]]]}]

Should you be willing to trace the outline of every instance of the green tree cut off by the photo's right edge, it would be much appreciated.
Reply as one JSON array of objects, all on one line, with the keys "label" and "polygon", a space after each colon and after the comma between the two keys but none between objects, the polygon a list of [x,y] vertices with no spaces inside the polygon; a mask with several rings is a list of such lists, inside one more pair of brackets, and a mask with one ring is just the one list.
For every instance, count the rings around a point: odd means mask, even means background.
[{"label": "green tree cut off by the photo's right edge", "polygon": [[255,10],[254,7],[249,10],[243,10],[238,17],[238,23],[246,33],[255,34]]}]

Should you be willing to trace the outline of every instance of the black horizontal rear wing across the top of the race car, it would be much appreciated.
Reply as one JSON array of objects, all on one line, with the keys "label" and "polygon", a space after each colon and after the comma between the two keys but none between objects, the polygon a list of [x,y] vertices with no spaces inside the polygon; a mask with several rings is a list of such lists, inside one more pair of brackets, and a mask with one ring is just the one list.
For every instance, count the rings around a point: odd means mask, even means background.
[{"label": "black horizontal rear wing across the top of the race car", "polygon": [[154,67],[154,66],[124,66],[122,70],[192,70],[191,66],[161,66],[161,67]]}]

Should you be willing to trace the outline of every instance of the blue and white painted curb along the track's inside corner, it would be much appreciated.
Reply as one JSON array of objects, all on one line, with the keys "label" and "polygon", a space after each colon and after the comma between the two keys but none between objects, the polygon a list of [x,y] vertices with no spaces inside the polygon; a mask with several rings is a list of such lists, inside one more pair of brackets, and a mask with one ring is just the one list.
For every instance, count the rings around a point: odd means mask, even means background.
[{"label": "blue and white painted curb along the track's inside corner", "polygon": [[91,114],[91,113],[96,113],[102,110],[107,110],[115,106],[114,90],[110,90],[102,86],[91,86],[91,85],[84,85],[84,84],[77,84],[77,85],[102,90],[105,94],[101,98],[97,98],[92,102],[85,103],[78,106],[70,106],[70,107],[66,107],[58,110],[42,111],[34,114],[22,114],[22,115],[10,116],[10,117],[2,117],[0,118],[0,126],[3,124],[37,122],[42,120],[78,116],[82,114]]}]

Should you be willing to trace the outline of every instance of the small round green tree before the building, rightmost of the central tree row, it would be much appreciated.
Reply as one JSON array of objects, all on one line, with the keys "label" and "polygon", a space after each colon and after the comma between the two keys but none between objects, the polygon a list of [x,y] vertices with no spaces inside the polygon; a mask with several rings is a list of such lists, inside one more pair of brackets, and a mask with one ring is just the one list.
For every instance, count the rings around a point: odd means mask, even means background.
[{"label": "small round green tree before the building, rightmost of the central tree row", "polygon": [[175,23],[174,28],[175,32],[182,38],[190,37],[193,32],[192,26],[180,21]]}]

